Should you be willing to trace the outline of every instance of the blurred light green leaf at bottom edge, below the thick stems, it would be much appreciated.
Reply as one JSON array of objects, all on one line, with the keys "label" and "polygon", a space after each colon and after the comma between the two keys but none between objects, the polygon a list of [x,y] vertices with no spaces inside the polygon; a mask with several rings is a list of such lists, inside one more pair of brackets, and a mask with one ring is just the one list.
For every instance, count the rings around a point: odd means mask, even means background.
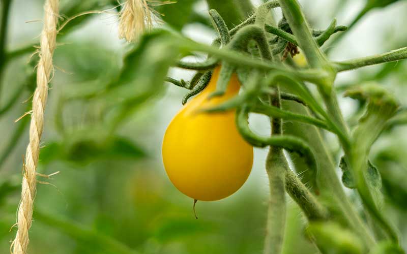
[{"label": "blurred light green leaf at bottom edge, below the thick stems", "polygon": [[316,245],[322,253],[359,254],[363,245],[359,237],[352,231],[342,228],[336,223],[311,223],[306,232],[315,238]]}]

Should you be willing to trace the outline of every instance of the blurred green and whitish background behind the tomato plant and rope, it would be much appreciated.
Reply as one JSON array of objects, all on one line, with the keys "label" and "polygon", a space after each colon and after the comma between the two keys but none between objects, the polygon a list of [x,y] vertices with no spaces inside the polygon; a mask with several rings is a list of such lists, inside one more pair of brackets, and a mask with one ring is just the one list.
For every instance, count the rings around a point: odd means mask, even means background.
[{"label": "blurred green and whitish background behind the tomato plant and rope", "polygon": [[[310,23],[325,28],[333,17],[348,24],[363,8],[363,0],[303,0]],[[259,1],[253,2],[255,5]],[[115,1],[61,0],[61,18],[83,10],[105,10]],[[9,15],[7,50],[37,43],[42,28],[43,1],[13,0]],[[204,1],[179,0],[157,11],[173,28],[199,42],[210,44],[216,36],[208,25]],[[65,12],[64,12],[65,11]],[[342,60],[381,53],[407,45],[407,1],[369,12],[334,46],[330,57]],[[279,17],[280,14],[276,13]],[[26,22],[33,21],[33,22]],[[131,45],[118,39],[115,11],[89,15],[70,23],[60,35],[54,54],[55,73],[46,107],[38,171],[30,253],[261,253],[265,233],[268,178],[266,149],[255,149],[252,173],[234,195],[217,202],[198,202],[171,185],[161,162],[161,140],[172,116],[181,108],[186,90],[157,84],[153,90],[134,82],[140,97],[129,104],[91,100],[89,94],[106,89],[122,68]],[[163,25],[162,23],[157,24]],[[0,109],[0,249],[8,251],[16,229],[20,198],[22,155],[28,143],[29,117],[14,122],[30,107],[34,56],[15,57],[2,76]],[[196,57],[196,59],[200,59]],[[190,79],[192,72],[171,69],[169,76]],[[405,104],[407,62],[364,68],[340,74],[338,87],[379,82]],[[344,115],[351,123],[359,105],[340,95]],[[259,133],[269,133],[267,119],[251,118]],[[407,136],[406,128],[386,132],[373,147],[373,162],[380,168],[384,209],[403,238],[407,235]],[[326,135],[339,160],[338,144]],[[338,170],[338,177],[340,173]],[[50,184],[46,184],[46,182]],[[355,196],[347,189],[350,196]],[[356,200],[356,199],[355,199]],[[288,201],[284,253],[315,253],[305,237],[304,218]],[[359,206],[360,207],[360,206]],[[11,231],[10,231],[11,229]],[[404,247],[405,241],[401,240]]]}]

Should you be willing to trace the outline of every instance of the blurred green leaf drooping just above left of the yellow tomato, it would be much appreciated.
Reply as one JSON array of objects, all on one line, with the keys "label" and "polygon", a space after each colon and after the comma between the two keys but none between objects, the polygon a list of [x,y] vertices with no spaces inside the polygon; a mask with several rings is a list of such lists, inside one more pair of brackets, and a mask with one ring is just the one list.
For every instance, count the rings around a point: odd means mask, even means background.
[{"label": "blurred green leaf drooping just above left of the yellow tomato", "polygon": [[157,29],[142,36],[138,46],[126,55],[119,77],[98,98],[113,105],[145,101],[160,91],[179,54],[167,31]]}]

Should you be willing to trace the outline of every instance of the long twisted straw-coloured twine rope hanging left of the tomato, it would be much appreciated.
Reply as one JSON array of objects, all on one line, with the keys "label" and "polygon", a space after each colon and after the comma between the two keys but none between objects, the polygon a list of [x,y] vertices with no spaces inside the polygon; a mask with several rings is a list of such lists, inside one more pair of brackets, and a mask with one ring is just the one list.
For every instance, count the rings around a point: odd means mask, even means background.
[{"label": "long twisted straw-coloured twine rope hanging left of the tomato", "polygon": [[40,140],[44,128],[44,109],[48,97],[48,82],[55,49],[56,23],[59,16],[59,0],[46,0],[44,4],[44,27],[40,38],[40,60],[37,67],[37,88],[33,97],[33,113],[30,124],[30,143],[25,153],[21,201],[17,210],[17,234],[11,244],[13,254],[27,253],[28,230],[33,219],[33,204],[36,195],[36,169],[40,153]]}]

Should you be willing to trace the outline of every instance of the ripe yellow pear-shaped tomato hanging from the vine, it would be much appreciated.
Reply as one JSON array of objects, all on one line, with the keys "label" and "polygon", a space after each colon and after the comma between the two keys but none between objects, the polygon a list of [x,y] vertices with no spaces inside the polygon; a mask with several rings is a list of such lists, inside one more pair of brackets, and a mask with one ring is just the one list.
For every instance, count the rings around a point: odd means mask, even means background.
[{"label": "ripe yellow pear-shaped tomato hanging from the vine", "polygon": [[202,201],[223,199],[246,181],[253,164],[253,147],[238,133],[235,110],[202,113],[237,95],[233,75],[225,94],[208,99],[216,88],[219,68],[208,86],[172,119],[164,135],[162,156],[171,182],[185,195]]}]

